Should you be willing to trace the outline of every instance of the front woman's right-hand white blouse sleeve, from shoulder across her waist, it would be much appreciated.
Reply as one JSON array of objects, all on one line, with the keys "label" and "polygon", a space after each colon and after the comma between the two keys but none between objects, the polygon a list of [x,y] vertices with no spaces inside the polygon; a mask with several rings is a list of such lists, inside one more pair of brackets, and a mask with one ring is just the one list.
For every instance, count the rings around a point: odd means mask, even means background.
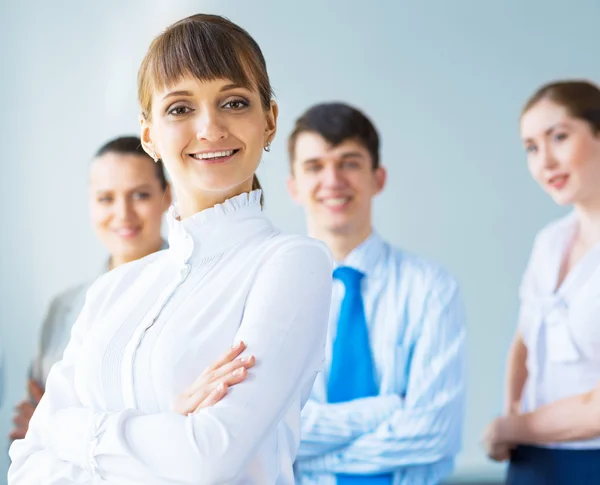
[{"label": "front woman's right-hand white blouse sleeve, from shoulder across her waist", "polygon": [[49,387],[48,449],[109,483],[229,482],[321,369],[331,286],[332,261],[324,246],[287,241],[259,270],[246,301],[236,338],[257,364],[243,385],[188,416],[70,407],[58,388]]}]

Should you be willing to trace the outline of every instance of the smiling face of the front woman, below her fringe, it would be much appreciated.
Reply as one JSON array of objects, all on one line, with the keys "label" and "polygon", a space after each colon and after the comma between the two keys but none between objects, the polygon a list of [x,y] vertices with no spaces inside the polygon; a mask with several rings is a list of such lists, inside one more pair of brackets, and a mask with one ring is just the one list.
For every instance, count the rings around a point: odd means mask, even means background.
[{"label": "smiling face of the front woman, below her fringe", "polygon": [[[187,217],[203,200],[249,191],[263,149],[275,135],[277,106],[257,90],[219,79],[184,78],[155,93],[142,139],[163,159]],[[194,209],[196,207],[196,209]]]}]

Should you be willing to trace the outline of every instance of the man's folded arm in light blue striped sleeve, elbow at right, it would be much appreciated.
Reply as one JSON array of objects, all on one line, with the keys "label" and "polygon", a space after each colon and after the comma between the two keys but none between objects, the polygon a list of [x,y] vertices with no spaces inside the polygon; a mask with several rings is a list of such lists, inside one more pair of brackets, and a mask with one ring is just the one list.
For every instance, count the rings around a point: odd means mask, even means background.
[{"label": "man's folded arm in light blue striped sleeve, elbow at right", "polygon": [[464,310],[456,287],[426,302],[406,397],[342,404],[313,401],[302,413],[300,471],[387,473],[458,452],[464,414]]}]

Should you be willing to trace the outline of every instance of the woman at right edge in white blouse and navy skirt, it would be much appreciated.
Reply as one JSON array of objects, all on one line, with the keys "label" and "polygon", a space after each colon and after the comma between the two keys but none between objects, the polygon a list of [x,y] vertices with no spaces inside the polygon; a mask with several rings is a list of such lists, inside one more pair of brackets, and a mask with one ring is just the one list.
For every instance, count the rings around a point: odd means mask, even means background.
[{"label": "woman at right edge in white blouse and navy skirt", "polygon": [[521,137],[532,177],[573,207],[536,237],[508,358],[505,416],[488,454],[509,485],[600,483],[600,88],[543,86]]}]

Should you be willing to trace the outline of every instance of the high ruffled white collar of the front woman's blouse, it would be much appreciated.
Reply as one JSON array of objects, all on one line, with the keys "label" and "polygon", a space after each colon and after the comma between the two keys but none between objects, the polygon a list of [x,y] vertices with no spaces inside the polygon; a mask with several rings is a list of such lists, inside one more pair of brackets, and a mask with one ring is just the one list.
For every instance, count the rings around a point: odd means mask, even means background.
[{"label": "high ruffled white collar of the front woman's blouse", "polygon": [[183,262],[212,256],[270,226],[260,196],[261,190],[239,194],[184,220],[171,207],[167,214],[170,253]]}]

